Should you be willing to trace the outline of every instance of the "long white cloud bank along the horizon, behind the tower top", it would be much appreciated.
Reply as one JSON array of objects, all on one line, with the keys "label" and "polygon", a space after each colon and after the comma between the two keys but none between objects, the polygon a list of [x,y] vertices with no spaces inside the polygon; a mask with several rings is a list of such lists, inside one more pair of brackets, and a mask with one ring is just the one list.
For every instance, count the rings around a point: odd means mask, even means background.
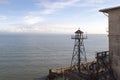
[{"label": "long white cloud bank along the horizon, behind the tower top", "polygon": [[[96,27],[96,26],[102,27]],[[107,26],[107,25],[106,25]],[[0,32],[15,32],[15,33],[42,33],[42,34],[74,34],[80,28],[87,33],[106,33],[104,23],[95,22],[92,24],[55,24],[55,23],[36,23],[33,25],[27,24],[10,24],[0,28]],[[91,30],[92,29],[92,30]]]}]

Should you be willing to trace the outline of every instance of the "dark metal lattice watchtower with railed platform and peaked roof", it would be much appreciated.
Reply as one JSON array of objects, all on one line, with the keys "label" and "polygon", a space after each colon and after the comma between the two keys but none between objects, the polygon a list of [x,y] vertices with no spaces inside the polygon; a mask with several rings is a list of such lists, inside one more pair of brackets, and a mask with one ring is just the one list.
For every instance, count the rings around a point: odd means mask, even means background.
[{"label": "dark metal lattice watchtower with railed platform and peaked roof", "polygon": [[84,47],[83,40],[86,39],[83,35],[83,32],[81,30],[77,30],[75,32],[75,35],[71,37],[72,39],[75,39],[74,49],[73,49],[73,55],[71,60],[71,67],[74,67],[74,70],[77,72],[81,72],[80,65],[81,63],[87,61],[86,58],[86,52]]}]

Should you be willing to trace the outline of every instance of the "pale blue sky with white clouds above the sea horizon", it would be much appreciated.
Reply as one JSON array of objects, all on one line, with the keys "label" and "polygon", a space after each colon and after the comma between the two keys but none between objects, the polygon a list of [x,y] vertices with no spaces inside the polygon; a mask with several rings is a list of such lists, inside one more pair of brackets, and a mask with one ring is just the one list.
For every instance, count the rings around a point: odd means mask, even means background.
[{"label": "pale blue sky with white clouds above the sea horizon", "polygon": [[106,34],[108,17],[100,9],[120,0],[0,0],[0,32],[71,34],[78,28]]}]

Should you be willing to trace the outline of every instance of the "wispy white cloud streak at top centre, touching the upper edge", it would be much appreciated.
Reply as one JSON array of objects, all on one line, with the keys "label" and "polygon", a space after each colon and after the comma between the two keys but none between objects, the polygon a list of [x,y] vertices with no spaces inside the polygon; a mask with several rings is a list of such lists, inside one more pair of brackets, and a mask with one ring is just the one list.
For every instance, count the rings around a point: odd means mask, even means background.
[{"label": "wispy white cloud streak at top centre, touching the upper edge", "polygon": [[39,5],[42,5],[45,8],[42,11],[43,14],[52,14],[58,9],[72,6],[77,2],[79,2],[79,0],[65,0],[65,1],[56,1],[56,2],[44,1],[39,3]]}]

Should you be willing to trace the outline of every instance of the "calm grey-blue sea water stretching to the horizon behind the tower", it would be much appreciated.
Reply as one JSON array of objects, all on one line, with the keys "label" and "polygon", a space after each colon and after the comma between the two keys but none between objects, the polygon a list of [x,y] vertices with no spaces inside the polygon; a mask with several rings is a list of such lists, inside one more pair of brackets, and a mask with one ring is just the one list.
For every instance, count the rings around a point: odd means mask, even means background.
[{"label": "calm grey-blue sea water stretching to the horizon behind the tower", "polygon": [[[88,35],[84,42],[88,60],[108,50],[107,35]],[[1,34],[0,80],[36,80],[69,66],[73,45],[71,35]]]}]

